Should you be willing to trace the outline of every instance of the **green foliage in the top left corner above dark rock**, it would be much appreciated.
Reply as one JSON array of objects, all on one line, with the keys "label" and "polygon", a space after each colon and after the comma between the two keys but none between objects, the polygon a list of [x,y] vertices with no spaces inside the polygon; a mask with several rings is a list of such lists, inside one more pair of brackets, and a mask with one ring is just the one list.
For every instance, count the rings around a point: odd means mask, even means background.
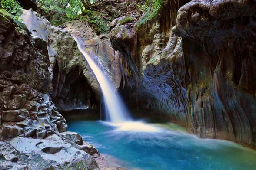
[{"label": "green foliage in the top left corner above dark rock", "polygon": [[15,0],[2,0],[1,5],[4,10],[13,15],[14,19],[17,19],[21,14],[21,6]]}]

